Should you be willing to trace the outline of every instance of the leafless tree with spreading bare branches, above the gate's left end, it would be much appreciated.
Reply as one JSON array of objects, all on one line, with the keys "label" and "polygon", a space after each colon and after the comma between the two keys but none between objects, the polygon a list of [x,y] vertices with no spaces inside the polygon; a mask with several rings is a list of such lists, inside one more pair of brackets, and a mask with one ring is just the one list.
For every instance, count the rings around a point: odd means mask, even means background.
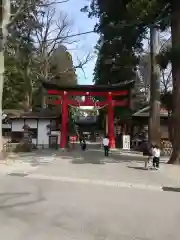
[{"label": "leafless tree with spreading bare branches, above the gate's left end", "polygon": [[[60,45],[72,44],[77,41],[69,41],[68,35],[71,32],[71,24],[68,16],[62,12],[59,18],[55,18],[55,8],[48,8],[46,13],[36,16],[41,27],[36,30],[37,63],[40,65],[39,76],[49,79],[50,59],[53,52]],[[53,36],[53,37],[52,37]]]}]

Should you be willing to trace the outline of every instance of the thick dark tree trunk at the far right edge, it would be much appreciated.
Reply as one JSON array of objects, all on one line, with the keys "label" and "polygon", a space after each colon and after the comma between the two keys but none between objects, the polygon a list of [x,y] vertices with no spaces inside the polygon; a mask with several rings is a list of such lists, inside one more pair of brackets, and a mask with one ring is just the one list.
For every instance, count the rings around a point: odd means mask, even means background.
[{"label": "thick dark tree trunk at the far right edge", "polygon": [[[172,1],[172,48],[180,48],[180,1]],[[172,127],[173,127],[173,152],[169,163],[180,164],[180,61],[172,59],[172,77],[173,77],[173,109],[172,109]]]}]

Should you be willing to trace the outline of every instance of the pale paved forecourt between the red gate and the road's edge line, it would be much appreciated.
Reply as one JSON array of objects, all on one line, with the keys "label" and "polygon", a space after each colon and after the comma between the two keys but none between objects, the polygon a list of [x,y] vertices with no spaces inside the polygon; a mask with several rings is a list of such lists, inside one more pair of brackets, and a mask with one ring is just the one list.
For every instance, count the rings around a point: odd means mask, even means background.
[{"label": "pale paved forecourt between the red gate and the road's edge line", "polygon": [[[115,151],[108,158],[103,151],[89,148],[88,151],[62,152],[38,151],[18,158],[15,164],[0,167],[0,174],[7,172],[28,172],[38,178],[64,178],[108,182],[108,185],[143,185],[180,188],[180,168],[161,163],[160,171],[144,171],[142,156],[122,155]],[[36,176],[37,177],[37,176]],[[110,183],[109,183],[110,182]]]}]

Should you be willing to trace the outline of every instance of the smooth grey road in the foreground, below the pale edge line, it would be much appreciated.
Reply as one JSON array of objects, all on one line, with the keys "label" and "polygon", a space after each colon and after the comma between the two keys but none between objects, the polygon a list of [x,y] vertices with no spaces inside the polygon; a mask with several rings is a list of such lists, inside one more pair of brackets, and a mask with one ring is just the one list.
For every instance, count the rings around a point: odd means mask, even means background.
[{"label": "smooth grey road in the foreground, below the pale edge line", "polygon": [[179,240],[180,194],[4,176],[6,240]]}]

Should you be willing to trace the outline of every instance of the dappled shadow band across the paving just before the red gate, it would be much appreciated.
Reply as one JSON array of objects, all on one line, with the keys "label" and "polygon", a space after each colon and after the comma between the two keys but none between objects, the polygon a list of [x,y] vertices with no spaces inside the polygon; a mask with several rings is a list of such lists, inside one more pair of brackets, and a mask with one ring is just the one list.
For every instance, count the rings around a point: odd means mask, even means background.
[{"label": "dappled shadow band across the paving just before the red gate", "polygon": [[72,164],[105,164],[105,163],[123,163],[139,162],[142,163],[144,158],[131,155],[122,155],[121,150],[110,151],[109,157],[105,158],[103,149],[100,145],[87,145],[87,150],[82,151],[80,146],[76,145],[74,149],[69,150],[44,150],[37,151],[32,157],[22,157],[21,161],[30,163],[32,167],[40,165],[49,165],[53,161],[69,161]]}]

